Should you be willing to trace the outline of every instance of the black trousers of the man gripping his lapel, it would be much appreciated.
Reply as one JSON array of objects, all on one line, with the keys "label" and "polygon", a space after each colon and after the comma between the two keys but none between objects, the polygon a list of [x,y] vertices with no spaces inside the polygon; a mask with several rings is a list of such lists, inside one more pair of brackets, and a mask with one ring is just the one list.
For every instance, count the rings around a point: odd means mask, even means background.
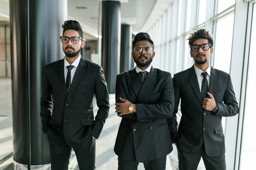
[{"label": "black trousers of the man gripping his lapel", "polygon": [[177,147],[179,170],[197,170],[197,166],[201,160],[203,160],[206,170],[226,170],[225,154],[219,156],[208,156],[205,153],[204,147],[201,149],[201,153],[192,154],[180,150]]}]

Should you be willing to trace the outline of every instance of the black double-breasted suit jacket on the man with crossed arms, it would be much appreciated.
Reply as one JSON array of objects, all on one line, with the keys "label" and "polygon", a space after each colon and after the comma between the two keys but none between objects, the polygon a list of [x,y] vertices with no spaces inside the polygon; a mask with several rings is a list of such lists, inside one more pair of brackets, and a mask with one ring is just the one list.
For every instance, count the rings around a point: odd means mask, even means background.
[{"label": "black double-breasted suit jacket on the man with crossed arms", "polygon": [[130,161],[155,160],[170,153],[173,148],[167,119],[174,107],[171,74],[152,67],[142,85],[135,69],[119,74],[116,102],[121,102],[119,97],[135,103],[137,113],[122,116],[115,153]]}]

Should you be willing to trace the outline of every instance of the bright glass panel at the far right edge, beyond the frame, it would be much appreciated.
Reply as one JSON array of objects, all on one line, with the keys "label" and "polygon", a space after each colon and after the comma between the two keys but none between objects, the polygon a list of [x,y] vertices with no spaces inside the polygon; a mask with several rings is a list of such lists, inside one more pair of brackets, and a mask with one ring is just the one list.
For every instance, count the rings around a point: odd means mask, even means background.
[{"label": "bright glass panel at the far right edge, beyond the frame", "polygon": [[[256,8],[256,4],[254,4]],[[256,96],[256,9],[254,9],[251,42],[248,62],[248,77],[246,88],[246,103],[243,123],[243,138],[241,149],[240,170],[254,170],[256,167],[256,145],[255,145],[255,96]]]}]

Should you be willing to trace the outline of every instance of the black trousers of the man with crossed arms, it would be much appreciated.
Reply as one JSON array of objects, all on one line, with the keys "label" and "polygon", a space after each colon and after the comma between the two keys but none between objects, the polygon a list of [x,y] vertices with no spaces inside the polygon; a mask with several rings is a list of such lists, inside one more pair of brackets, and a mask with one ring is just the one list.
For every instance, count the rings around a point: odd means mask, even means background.
[{"label": "black trousers of the man with crossed arms", "polygon": [[[137,170],[137,161],[127,161],[118,157],[118,170]],[[145,170],[165,170],[166,166],[166,156],[160,159],[144,161]]]}]

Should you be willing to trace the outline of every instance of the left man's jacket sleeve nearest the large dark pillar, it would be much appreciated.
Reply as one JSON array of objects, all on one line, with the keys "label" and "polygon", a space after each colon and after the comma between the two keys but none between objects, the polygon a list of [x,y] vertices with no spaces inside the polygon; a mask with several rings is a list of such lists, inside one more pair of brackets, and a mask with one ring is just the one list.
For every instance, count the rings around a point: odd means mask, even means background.
[{"label": "left man's jacket sleeve nearest the large dark pillar", "polygon": [[46,134],[48,129],[48,121],[51,118],[52,113],[52,87],[48,80],[47,68],[45,67],[43,74],[43,83],[42,83],[42,96],[41,96],[41,113],[42,118],[42,129]]}]

